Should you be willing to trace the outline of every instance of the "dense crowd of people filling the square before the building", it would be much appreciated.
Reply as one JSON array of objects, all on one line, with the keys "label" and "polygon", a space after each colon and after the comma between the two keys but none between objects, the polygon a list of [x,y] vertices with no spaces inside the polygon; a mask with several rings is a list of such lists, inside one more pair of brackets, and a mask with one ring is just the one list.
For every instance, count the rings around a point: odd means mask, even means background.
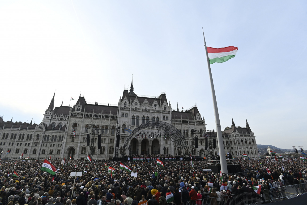
[{"label": "dense crowd of people filling the square before the building", "polygon": [[[145,200],[149,205],[200,205],[204,199],[219,204],[220,196],[257,195],[254,186],[278,191],[286,185],[307,183],[307,162],[299,160],[240,160],[237,163],[246,175],[222,173],[222,177],[202,171],[210,163],[206,160],[194,161],[193,167],[191,161],[164,161],[164,168],[157,167],[154,160],[122,162],[138,172],[137,177],[131,177],[115,161],[66,163],[62,169],[61,160],[51,160],[58,169],[51,175],[40,171],[42,161],[1,161],[0,205],[137,205]],[[108,172],[108,167],[115,171]],[[75,179],[70,176],[72,171],[82,171],[82,175]]]}]

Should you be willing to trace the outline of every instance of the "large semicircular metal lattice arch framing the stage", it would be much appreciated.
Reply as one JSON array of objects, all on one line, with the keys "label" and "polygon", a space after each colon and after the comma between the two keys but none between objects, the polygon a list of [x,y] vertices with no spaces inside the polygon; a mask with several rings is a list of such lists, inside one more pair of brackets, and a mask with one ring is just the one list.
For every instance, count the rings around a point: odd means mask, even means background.
[{"label": "large semicircular metal lattice arch framing the stage", "polygon": [[[144,129],[157,129],[159,132],[164,132],[167,139],[170,139],[173,142],[174,148],[175,148],[175,155],[189,155],[190,153],[185,153],[185,150],[190,150],[189,146],[187,144],[187,141],[185,137],[182,135],[182,133],[173,125],[168,124],[166,122],[162,121],[150,121],[141,124],[137,128],[135,128],[130,135],[126,138],[126,141],[122,147],[122,156],[125,156],[127,153],[127,146],[130,143],[131,138],[133,136],[137,136],[139,132],[143,131]],[[145,135],[145,134],[144,134]],[[160,135],[158,135],[160,137]],[[139,136],[140,137],[140,136]],[[163,135],[161,136],[163,137]],[[161,140],[160,140],[161,141]]]}]

